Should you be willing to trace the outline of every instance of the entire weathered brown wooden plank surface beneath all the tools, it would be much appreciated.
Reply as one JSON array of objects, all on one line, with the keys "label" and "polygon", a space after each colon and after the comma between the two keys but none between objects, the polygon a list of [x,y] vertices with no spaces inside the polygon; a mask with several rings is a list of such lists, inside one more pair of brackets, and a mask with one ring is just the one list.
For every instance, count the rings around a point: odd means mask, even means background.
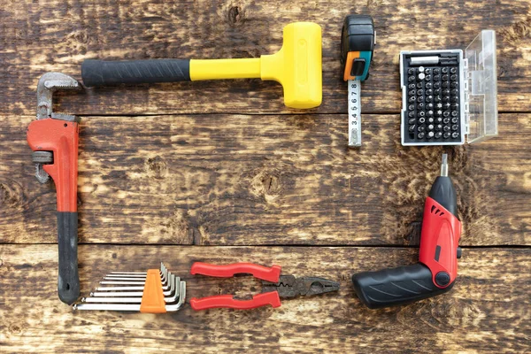
[{"label": "entire weathered brown wooden plank surface beneath all the tools", "polygon": [[[0,346],[3,352],[528,352],[531,338],[531,4],[528,1],[58,1],[0,4]],[[378,45],[362,87],[363,147],[349,150],[339,40],[371,14]],[[48,71],[85,58],[244,58],[281,28],[323,28],[323,104],[284,107],[255,80],[59,95],[81,116],[80,273],[160,260],[188,297],[259,291],[189,275],[194,261],[279,264],[342,283],[279,309],[165,315],[72,312],[57,297],[56,193],[26,142]],[[399,50],[465,49],[496,29],[499,136],[454,148],[400,145]],[[416,261],[422,207],[450,154],[463,222],[458,282],[443,296],[371,311],[350,276]],[[232,247],[231,247],[232,246]]]}]

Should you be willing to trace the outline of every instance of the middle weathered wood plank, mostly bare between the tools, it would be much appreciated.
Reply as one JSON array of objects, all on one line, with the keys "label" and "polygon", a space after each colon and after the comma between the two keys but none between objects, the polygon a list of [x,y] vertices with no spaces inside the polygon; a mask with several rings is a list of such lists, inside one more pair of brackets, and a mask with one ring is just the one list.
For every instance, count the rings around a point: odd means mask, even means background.
[{"label": "middle weathered wood plank, mostly bare between the tools", "polygon": [[[56,242],[56,192],[34,178],[24,127],[0,134],[2,242]],[[341,115],[87,117],[81,125],[81,242],[398,244],[419,240],[443,151],[464,245],[531,244],[531,114],[500,137],[405,148],[397,115],[365,115],[345,147]]]}]

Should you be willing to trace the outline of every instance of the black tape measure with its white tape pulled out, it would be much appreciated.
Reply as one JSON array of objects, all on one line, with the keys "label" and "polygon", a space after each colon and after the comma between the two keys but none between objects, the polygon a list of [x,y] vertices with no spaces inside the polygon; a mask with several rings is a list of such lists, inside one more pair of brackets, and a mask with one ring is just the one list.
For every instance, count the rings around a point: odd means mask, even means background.
[{"label": "black tape measure with its white tape pulled out", "polygon": [[341,33],[341,64],[343,80],[349,81],[349,146],[361,146],[360,82],[369,77],[376,44],[373,18],[349,15]]}]

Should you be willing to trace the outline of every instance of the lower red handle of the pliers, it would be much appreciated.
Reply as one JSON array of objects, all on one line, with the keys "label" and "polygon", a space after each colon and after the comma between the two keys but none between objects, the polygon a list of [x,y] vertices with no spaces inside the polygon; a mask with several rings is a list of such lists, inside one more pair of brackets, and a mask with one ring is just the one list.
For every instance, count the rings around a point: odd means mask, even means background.
[{"label": "lower red handle of the pliers", "polygon": [[190,306],[196,311],[222,307],[227,309],[250,310],[268,304],[273,307],[279,307],[281,305],[281,297],[278,292],[270,291],[268,293],[258,294],[253,296],[251,300],[236,300],[232,295],[194,297],[190,299]]}]

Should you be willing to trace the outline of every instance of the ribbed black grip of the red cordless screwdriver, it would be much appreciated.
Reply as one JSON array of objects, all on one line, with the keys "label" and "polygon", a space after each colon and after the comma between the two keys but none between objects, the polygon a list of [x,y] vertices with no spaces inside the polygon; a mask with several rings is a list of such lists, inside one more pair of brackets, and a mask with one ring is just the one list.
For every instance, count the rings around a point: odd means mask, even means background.
[{"label": "ribbed black grip of the red cordless screwdriver", "polygon": [[359,299],[371,309],[411,303],[443,294],[453,286],[437,288],[431,271],[421,263],[354,274],[352,282]]}]

